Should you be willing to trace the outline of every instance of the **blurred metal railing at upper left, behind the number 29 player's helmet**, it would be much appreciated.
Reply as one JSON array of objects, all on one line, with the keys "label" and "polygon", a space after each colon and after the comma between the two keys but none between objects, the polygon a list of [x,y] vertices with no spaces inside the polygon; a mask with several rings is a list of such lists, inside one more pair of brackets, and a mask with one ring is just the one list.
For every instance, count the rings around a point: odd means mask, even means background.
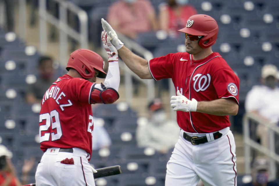
[{"label": "blurred metal railing at upper left, behind the number 29 player's helmet", "polygon": [[[65,0],[51,0],[58,3],[59,16],[58,19],[47,12],[46,0],[39,0],[39,15],[40,15],[40,51],[47,51],[47,22],[56,26],[59,31],[59,46],[60,46],[60,62],[68,59],[67,54],[67,36],[78,41],[81,48],[88,48],[88,16],[87,13],[76,6],[75,4]],[[76,14],[79,21],[80,32],[75,31],[67,24],[67,10]]]}]

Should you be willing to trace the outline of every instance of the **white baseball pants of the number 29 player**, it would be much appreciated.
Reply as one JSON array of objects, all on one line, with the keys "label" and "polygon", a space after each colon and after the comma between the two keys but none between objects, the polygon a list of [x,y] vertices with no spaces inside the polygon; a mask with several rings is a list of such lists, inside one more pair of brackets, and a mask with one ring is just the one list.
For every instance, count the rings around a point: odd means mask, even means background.
[{"label": "white baseball pants of the number 29 player", "polygon": [[[59,149],[49,148],[43,154],[35,175],[36,186],[95,186],[86,151],[73,148],[74,152],[69,153]],[[73,158],[74,164],[60,163],[65,158]]]}]

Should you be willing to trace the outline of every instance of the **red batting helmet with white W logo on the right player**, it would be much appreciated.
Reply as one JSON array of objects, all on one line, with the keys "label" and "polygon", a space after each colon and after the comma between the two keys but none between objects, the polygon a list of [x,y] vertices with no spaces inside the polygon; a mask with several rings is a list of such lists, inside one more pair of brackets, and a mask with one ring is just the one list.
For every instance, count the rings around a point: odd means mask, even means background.
[{"label": "red batting helmet with white W logo on the right player", "polygon": [[[203,35],[198,42],[202,48],[212,46],[217,39],[218,25],[215,19],[209,15],[197,14],[188,18],[185,28],[178,30],[191,35]],[[204,43],[207,41],[207,43]]]}]

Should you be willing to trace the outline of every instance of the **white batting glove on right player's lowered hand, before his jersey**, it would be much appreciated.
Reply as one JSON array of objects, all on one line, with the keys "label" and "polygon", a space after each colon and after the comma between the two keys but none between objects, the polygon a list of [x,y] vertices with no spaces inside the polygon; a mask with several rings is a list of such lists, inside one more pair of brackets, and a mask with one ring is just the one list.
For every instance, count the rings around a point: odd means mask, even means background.
[{"label": "white batting glove on right player's lowered hand, before his jersey", "polygon": [[176,92],[177,96],[171,96],[171,108],[174,111],[180,110],[183,112],[196,112],[198,102],[194,98],[191,100],[181,95],[179,90]]}]

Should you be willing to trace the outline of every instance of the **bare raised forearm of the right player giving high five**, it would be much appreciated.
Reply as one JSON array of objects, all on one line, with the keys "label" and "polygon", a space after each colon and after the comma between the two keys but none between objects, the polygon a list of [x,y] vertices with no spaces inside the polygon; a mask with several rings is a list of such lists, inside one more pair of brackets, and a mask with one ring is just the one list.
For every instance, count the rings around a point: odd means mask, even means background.
[{"label": "bare raised forearm of the right player giving high five", "polygon": [[152,79],[149,71],[148,61],[137,56],[127,47],[123,46],[118,50],[118,54],[129,69],[142,79]]}]

